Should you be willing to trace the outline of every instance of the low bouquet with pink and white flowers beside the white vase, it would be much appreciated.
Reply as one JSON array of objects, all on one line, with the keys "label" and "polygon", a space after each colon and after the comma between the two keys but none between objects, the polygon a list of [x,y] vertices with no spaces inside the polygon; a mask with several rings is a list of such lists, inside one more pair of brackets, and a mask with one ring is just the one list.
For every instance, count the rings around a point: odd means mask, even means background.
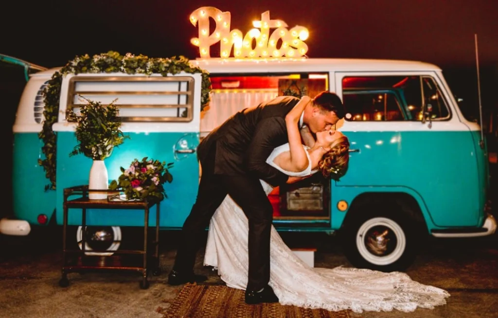
[{"label": "low bouquet with pink and white flowers beside the white vase", "polygon": [[143,158],[141,161],[133,159],[127,169],[121,167],[122,174],[118,180],[113,180],[109,185],[111,190],[122,190],[124,197],[115,195],[109,200],[154,200],[162,201],[166,196],[163,184],[173,180],[169,168],[173,163],[166,164],[154,159]]}]

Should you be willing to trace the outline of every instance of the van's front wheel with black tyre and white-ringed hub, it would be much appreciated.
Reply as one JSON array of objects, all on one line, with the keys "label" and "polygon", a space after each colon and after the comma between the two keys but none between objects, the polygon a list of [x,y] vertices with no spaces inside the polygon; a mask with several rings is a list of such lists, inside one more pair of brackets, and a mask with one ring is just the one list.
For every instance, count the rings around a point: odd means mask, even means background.
[{"label": "van's front wheel with black tyre and white-ringed hub", "polygon": [[353,218],[344,228],[343,247],[357,268],[404,271],[415,259],[417,236],[413,222],[401,215]]}]

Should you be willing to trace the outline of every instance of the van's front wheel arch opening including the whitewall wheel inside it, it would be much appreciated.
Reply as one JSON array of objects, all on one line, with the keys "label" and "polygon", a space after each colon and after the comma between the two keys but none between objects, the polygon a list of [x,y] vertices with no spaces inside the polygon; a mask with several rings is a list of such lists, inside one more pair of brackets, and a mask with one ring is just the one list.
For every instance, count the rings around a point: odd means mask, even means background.
[{"label": "van's front wheel arch opening including the whitewall wheel inside it", "polygon": [[[370,192],[351,203],[339,234],[344,253],[354,266],[390,272],[404,271],[412,264],[428,238],[428,229],[413,196]],[[381,249],[376,249],[379,246]]]}]

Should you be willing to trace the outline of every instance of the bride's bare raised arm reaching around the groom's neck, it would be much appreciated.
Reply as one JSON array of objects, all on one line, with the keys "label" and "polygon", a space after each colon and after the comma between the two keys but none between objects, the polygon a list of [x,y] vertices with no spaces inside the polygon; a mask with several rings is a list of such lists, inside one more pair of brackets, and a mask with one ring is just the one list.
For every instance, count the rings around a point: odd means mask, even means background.
[{"label": "bride's bare raised arm reaching around the groom's neck", "polygon": [[287,126],[287,138],[289,139],[290,149],[290,166],[294,171],[303,171],[308,167],[308,156],[301,144],[301,134],[297,123],[301,118],[304,107],[311,101],[308,96],[303,96],[301,100],[285,116],[285,125]]}]

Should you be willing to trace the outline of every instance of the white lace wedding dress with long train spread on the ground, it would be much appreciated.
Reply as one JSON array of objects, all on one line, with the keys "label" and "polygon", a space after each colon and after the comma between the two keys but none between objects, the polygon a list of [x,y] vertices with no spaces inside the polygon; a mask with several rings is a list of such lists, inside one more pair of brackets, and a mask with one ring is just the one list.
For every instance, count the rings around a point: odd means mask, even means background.
[{"label": "white lace wedding dress with long train spread on the ground", "polygon": [[[296,173],[273,163],[278,154],[288,150],[288,144],[276,148],[266,162],[288,175],[309,174],[311,166]],[[266,193],[271,192],[270,185],[261,183]],[[248,231],[246,215],[227,196],[211,219],[204,257],[204,264],[218,269],[227,286],[242,290],[248,282]],[[358,313],[393,309],[412,312],[417,307],[432,309],[446,304],[446,297],[450,296],[442,289],[417,283],[401,272],[310,267],[285,245],[273,226],[269,285],[282,305],[330,311],[350,309]]]}]

